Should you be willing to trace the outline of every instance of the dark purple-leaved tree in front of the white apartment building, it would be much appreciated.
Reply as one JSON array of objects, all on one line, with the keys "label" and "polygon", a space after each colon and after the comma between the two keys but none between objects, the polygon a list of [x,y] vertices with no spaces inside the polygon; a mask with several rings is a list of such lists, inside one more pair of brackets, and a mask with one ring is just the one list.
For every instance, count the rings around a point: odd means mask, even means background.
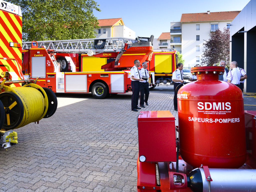
[{"label": "dark purple-leaved tree in front of the white apartment building", "polygon": [[210,38],[203,43],[204,51],[202,55],[202,63],[212,66],[220,61],[229,64],[229,29],[224,28],[223,32],[217,29],[211,33]]}]

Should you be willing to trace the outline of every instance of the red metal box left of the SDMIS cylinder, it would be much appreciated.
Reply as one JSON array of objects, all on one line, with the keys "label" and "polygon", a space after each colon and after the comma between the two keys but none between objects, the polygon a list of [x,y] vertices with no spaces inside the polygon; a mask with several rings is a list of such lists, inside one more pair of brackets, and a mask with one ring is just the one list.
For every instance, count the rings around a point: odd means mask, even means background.
[{"label": "red metal box left of the SDMIS cylinder", "polygon": [[176,161],[175,118],[170,111],[138,115],[139,157],[145,162]]}]

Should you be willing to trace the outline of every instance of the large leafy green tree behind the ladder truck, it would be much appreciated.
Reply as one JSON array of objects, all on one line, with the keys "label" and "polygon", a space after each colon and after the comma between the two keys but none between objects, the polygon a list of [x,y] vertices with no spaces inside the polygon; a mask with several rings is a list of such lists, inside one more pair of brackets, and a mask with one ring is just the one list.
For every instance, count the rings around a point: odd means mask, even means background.
[{"label": "large leafy green tree behind the ladder truck", "polygon": [[22,40],[94,38],[100,11],[93,0],[10,0],[22,10]]}]

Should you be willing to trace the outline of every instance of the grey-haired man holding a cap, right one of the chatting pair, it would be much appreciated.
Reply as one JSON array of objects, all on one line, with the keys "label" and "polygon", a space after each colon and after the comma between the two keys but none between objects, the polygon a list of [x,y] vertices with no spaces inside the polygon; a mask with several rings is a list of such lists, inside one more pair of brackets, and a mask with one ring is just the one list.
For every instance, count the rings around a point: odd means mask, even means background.
[{"label": "grey-haired man holding a cap, right one of the chatting pair", "polygon": [[[149,95],[149,84],[148,84],[148,77],[149,73],[147,70],[147,62],[142,63],[142,68],[139,70],[140,76],[144,81],[140,81],[140,93],[141,93],[141,99],[140,99],[140,106],[145,108],[144,102],[146,105],[148,105],[148,95]],[[145,99],[144,99],[144,93],[145,93]]]}]

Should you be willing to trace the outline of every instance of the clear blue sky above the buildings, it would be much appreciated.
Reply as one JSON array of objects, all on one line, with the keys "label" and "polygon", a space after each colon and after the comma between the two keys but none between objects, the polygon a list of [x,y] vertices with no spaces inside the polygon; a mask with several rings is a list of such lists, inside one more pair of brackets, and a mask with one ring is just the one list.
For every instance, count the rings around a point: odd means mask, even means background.
[{"label": "clear blue sky above the buildings", "polygon": [[136,33],[136,37],[158,38],[162,32],[170,32],[170,22],[180,20],[183,13],[204,13],[219,11],[240,11],[250,0],[95,0],[101,12],[94,10],[98,19],[122,18],[126,27]]}]

